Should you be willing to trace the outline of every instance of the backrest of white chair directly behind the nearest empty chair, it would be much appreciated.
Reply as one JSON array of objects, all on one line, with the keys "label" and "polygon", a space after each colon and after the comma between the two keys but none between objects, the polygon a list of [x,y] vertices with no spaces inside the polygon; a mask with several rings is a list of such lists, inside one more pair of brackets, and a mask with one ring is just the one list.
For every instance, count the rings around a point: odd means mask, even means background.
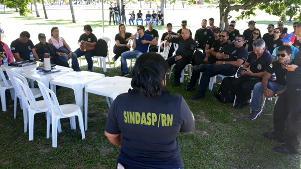
[{"label": "backrest of white chair directly behind the nearest empty chair", "polygon": [[34,105],[36,110],[42,111],[39,106],[37,105],[35,96],[32,92],[32,90],[26,86],[19,78],[13,77],[15,79],[15,82],[17,84],[18,90],[22,91],[20,92],[22,96],[22,101],[26,103],[26,106],[31,109],[30,105]]}]

